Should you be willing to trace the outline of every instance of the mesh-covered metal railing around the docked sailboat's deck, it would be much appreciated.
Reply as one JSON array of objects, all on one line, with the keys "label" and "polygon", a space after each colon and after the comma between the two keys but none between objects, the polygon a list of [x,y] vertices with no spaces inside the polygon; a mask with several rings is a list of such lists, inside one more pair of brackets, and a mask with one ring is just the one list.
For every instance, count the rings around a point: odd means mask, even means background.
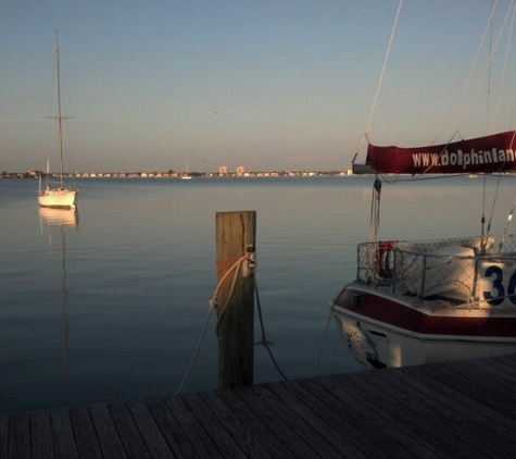
[{"label": "mesh-covered metal railing around the docked sailboat's deck", "polygon": [[441,296],[478,302],[479,273],[491,276],[489,266],[502,270],[507,261],[514,270],[514,235],[506,236],[503,244],[484,236],[364,243],[357,248],[356,280],[421,299]]}]

